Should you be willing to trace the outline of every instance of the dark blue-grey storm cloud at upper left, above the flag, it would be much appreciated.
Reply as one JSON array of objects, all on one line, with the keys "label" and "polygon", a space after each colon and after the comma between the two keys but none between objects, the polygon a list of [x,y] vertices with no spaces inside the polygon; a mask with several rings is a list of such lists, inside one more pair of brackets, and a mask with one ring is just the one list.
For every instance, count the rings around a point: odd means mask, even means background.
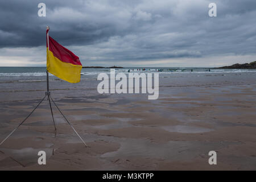
[{"label": "dark blue-grey storm cloud at upper left, above the flag", "polygon": [[[47,16],[38,16],[38,3],[47,6]],[[34,47],[46,44],[46,26],[51,36],[69,44],[89,44],[108,39],[115,32],[108,22],[97,24],[77,19],[84,3],[63,1],[1,1],[0,46]],[[76,16],[73,16],[73,14]]]}]

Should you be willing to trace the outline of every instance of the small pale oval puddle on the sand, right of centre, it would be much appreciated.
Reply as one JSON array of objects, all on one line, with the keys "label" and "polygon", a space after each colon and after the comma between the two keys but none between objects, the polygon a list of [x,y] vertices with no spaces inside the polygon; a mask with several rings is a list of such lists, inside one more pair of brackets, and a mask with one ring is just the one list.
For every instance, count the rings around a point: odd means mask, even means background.
[{"label": "small pale oval puddle on the sand, right of centre", "polygon": [[212,129],[207,129],[204,127],[194,127],[194,126],[184,126],[184,125],[163,126],[161,128],[169,132],[177,132],[177,133],[205,133],[205,132],[213,131]]}]

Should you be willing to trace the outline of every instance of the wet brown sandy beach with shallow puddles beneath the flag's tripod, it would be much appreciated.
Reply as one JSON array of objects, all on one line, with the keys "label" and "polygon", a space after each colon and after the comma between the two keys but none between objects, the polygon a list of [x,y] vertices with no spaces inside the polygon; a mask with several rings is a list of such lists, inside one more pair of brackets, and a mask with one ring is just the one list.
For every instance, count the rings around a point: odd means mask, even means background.
[{"label": "wet brown sandy beach with shallow puddles beneath the flag's tripod", "polygon": [[[72,88],[51,81],[52,98],[89,147],[53,106],[54,136],[44,100],[0,146],[0,170],[255,170],[252,74],[248,79],[193,77],[187,84],[183,78],[160,77],[158,100],[147,100],[147,94],[98,94],[95,80]],[[15,90],[17,83],[1,88],[1,140],[38,104],[45,84],[22,84],[16,92],[8,92],[8,86]],[[38,165],[41,150],[46,151],[47,165]],[[217,165],[208,163],[212,150],[217,152]]]}]

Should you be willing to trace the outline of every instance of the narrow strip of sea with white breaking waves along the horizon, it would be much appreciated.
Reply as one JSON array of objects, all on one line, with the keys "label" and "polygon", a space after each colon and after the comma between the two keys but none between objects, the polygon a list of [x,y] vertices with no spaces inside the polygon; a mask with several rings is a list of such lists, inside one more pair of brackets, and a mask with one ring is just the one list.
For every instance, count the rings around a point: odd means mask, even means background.
[{"label": "narrow strip of sea with white breaking waves along the horizon", "polygon": [[[145,71],[142,69],[145,68]],[[133,73],[160,73],[160,75],[169,75],[170,77],[176,77],[177,75],[182,75],[184,77],[190,76],[216,76],[216,74],[251,74],[256,72],[256,69],[213,69],[213,68],[191,68],[191,67],[126,67],[115,69],[116,73],[128,73],[128,70]],[[161,72],[158,70],[162,69]],[[192,71],[191,71],[192,70]],[[209,71],[210,70],[210,71]],[[81,79],[91,79],[97,78],[100,73],[110,73],[109,68],[82,68]],[[203,74],[203,75],[202,75]],[[180,76],[181,76],[180,75]],[[49,73],[52,77],[52,81],[55,80],[53,75]],[[1,82],[11,82],[11,81],[44,81],[46,77],[46,67],[0,67],[0,81]]]}]

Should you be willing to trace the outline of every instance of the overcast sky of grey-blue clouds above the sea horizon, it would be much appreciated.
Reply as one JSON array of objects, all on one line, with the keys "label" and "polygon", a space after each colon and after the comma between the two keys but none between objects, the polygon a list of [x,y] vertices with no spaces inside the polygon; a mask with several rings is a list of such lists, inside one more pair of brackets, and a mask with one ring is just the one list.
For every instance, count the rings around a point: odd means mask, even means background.
[{"label": "overcast sky of grey-blue clouds above the sea horizon", "polygon": [[[209,3],[217,16],[210,17]],[[38,16],[38,4],[46,16]],[[0,67],[46,66],[49,36],[83,66],[220,67],[256,60],[255,0],[0,1]]]}]

